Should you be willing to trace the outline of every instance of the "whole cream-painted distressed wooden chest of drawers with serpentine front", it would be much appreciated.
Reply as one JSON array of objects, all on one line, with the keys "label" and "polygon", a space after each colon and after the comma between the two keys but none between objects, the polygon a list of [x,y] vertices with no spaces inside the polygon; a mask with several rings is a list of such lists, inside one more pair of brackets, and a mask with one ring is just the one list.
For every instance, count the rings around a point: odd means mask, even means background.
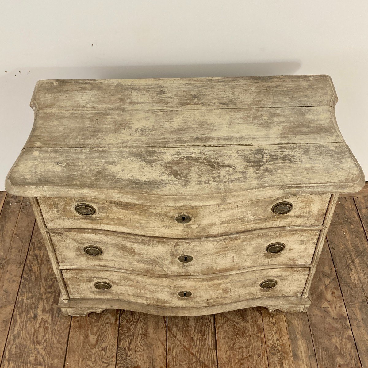
[{"label": "whole cream-painted distressed wooden chest of drawers with serpentine front", "polygon": [[307,311],[362,170],[328,75],[44,80],[6,179],[31,197],[66,315]]}]

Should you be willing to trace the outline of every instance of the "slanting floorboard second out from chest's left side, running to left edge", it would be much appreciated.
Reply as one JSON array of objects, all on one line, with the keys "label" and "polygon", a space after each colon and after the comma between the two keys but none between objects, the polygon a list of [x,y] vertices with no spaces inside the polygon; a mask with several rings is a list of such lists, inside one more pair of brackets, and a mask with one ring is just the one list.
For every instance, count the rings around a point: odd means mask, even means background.
[{"label": "slanting floorboard second out from chest's left side, running to left edge", "polygon": [[[12,211],[18,211],[18,206],[10,207]],[[4,220],[7,219],[0,219]],[[0,276],[0,331],[3,333],[0,334],[0,356],[4,351],[34,225],[35,216],[31,203],[28,198],[23,198],[7,258],[1,264],[3,272]]]}]

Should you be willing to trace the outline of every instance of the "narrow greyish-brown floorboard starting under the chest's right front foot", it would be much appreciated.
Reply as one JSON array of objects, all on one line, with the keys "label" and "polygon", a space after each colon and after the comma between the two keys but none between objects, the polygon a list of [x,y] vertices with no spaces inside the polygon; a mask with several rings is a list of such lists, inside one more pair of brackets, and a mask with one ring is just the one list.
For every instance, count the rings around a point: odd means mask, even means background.
[{"label": "narrow greyish-brown floorboard starting under the chest's right front foot", "polygon": [[307,313],[285,313],[294,368],[317,368]]}]

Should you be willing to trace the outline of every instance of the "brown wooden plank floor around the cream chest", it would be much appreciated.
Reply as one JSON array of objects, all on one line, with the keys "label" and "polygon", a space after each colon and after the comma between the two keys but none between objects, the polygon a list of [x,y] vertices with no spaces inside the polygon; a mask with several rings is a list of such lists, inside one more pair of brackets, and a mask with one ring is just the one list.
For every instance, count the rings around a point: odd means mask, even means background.
[{"label": "brown wooden plank floor around the cream chest", "polygon": [[340,197],[307,314],[63,316],[27,198],[0,192],[0,368],[368,368],[368,197]]}]

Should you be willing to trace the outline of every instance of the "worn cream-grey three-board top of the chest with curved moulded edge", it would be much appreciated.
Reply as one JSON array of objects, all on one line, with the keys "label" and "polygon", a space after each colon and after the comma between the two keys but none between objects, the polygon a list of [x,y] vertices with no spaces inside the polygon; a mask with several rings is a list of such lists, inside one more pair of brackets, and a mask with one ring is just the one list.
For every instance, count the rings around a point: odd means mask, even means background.
[{"label": "worn cream-grey three-board top of the chest with curved moulded edge", "polygon": [[42,80],[6,189],[173,206],[355,192],[336,102],[328,75]]}]

